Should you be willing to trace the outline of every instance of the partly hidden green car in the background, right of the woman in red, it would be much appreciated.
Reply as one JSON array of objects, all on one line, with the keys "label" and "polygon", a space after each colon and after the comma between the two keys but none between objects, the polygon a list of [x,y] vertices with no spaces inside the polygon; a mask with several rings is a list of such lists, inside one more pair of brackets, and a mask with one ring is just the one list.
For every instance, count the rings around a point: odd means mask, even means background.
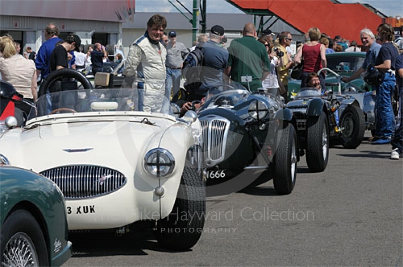
[{"label": "partly hidden green car in the background, right of the woman in red", "polygon": [[[341,76],[351,76],[356,72],[365,60],[365,52],[337,52],[326,54],[327,68],[340,74]],[[328,74],[325,78],[326,89],[332,90],[337,93],[339,90],[338,80],[332,75]],[[365,83],[362,78],[351,81],[354,85],[354,89],[357,92],[371,91],[371,86]],[[341,88],[345,88],[348,84],[342,82]],[[350,90],[354,90],[351,86]],[[294,99],[301,88],[301,80],[290,78],[288,81],[288,98]]]}]

